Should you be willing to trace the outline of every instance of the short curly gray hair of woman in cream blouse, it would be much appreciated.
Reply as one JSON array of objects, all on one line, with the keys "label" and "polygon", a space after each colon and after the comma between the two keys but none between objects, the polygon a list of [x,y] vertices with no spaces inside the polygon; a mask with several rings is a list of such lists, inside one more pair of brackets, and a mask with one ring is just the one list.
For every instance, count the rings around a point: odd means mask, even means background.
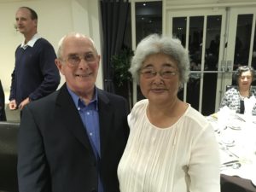
[{"label": "short curly gray hair of woman in cream blouse", "polygon": [[131,58],[131,67],[129,71],[133,79],[139,84],[139,75],[143,61],[148,55],[163,53],[177,61],[179,73],[179,87],[189,79],[189,51],[183,48],[180,40],[158,34],[149,35],[137,45],[134,56]]}]

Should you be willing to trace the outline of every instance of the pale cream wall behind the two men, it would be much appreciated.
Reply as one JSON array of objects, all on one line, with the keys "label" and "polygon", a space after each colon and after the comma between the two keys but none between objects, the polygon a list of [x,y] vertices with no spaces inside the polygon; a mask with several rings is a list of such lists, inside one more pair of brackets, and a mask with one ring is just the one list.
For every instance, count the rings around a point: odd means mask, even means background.
[{"label": "pale cream wall behind the two men", "polygon": [[[15,49],[23,41],[15,31],[15,12],[20,6],[31,7],[38,13],[38,33],[57,50],[61,37],[67,32],[82,32],[94,39],[101,52],[98,1],[96,0],[0,0],[0,79],[9,102],[11,73],[15,67]],[[61,77],[61,84],[64,79]],[[96,85],[102,88],[102,70]]]}]

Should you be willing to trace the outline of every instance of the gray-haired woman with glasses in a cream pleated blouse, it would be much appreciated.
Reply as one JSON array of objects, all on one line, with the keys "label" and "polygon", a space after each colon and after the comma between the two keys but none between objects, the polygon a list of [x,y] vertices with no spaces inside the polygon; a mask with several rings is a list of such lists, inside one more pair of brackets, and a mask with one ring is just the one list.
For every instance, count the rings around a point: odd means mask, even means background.
[{"label": "gray-haired woman with glasses in a cream pleated blouse", "polygon": [[219,157],[212,126],[177,98],[188,80],[189,55],[180,41],[144,38],[130,72],[146,99],[128,116],[130,137],[119,162],[121,192],[219,192]]}]

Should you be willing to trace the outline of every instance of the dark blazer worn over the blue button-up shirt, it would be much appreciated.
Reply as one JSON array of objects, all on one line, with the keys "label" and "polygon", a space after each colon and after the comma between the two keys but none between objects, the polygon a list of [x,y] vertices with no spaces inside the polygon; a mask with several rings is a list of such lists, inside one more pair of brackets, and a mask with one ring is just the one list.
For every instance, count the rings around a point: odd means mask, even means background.
[{"label": "dark blazer worn over the blue button-up shirt", "polygon": [[117,166],[129,134],[128,106],[121,96],[97,91],[99,164],[66,84],[26,105],[18,140],[20,192],[95,192],[97,170],[105,192],[119,191]]}]

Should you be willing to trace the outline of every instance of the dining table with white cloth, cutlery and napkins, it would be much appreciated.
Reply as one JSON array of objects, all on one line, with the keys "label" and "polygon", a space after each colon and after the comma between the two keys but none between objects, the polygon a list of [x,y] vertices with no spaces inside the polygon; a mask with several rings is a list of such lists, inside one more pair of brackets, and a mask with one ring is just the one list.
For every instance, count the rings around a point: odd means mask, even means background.
[{"label": "dining table with white cloth, cutlery and napkins", "polygon": [[223,109],[207,120],[218,141],[221,192],[256,192],[256,116]]}]

